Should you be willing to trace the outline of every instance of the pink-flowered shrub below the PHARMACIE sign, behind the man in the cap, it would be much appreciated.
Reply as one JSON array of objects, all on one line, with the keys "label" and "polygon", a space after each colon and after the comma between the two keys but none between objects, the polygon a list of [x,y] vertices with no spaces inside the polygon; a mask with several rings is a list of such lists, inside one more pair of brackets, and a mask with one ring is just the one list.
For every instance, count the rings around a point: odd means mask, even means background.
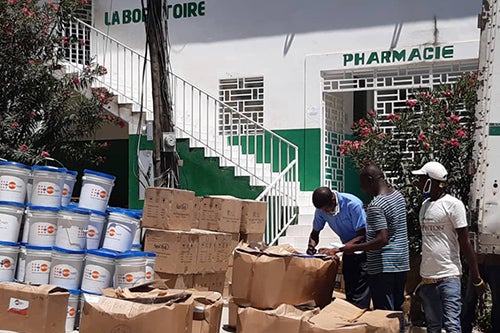
[{"label": "pink-flowered shrub below the PHARMACIE sign, behind the man in the cap", "polygon": [[400,113],[370,111],[352,126],[355,139],[339,146],[357,168],[370,162],[380,165],[388,181],[405,195],[414,251],[420,245],[422,198],[412,184],[412,170],[432,160],[442,163],[448,170],[448,192],[466,205],[469,202],[478,86],[476,73],[468,73],[453,85],[415,91]]}]

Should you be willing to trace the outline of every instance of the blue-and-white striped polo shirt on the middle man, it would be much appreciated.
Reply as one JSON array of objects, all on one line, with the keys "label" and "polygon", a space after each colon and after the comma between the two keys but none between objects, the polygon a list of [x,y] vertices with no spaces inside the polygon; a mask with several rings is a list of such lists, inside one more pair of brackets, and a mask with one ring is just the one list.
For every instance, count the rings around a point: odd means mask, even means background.
[{"label": "blue-and-white striped polo shirt on the middle man", "polygon": [[375,238],[378,230],[387,229],[388,244],[367,251],[368,274],[404,272],[410,270],[406,204],[399,191],[379,194],[366,211],[366,241]]}]

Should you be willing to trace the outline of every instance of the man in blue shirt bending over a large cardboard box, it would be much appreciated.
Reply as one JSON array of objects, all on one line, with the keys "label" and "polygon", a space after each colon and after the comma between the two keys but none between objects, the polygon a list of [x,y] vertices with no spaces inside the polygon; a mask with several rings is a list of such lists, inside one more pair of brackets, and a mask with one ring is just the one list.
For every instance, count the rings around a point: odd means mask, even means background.
[{"label": "man in blue shirt bending over a large cardboard box", "polygon": [[[366,214],[363,202],[352,194],[332,192],[319,187],[313,192],[313,230],[309,237],[308,254],[316,253],[319,233],[326,223],[344,244],[355,244],[365,239]],[[335,254],[335,249],[320,249],[320,253]],[[366,253],[344,254],[342,258],[347,301],[360,308],[370,307],[370,289],[366,273]]]}]

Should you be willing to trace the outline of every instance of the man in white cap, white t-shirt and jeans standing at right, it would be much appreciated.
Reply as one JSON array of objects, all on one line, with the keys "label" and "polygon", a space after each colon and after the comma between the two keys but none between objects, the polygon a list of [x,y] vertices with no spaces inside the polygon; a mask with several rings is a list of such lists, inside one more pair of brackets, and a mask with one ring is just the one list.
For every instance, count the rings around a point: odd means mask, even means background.
[{"label": "man in white cap, white t-shirt and jeans standing at right", "polygon": [[419,295],[427,332],[439,333],[442,328],[446,332],[461,332],[460,252],[469,264],[477,291],[482,293],[486,289],[469,241],[465,206],[445,193],[448,172],[441,163],[428,162],[412,173],[419,176],[417,186],[426,197],[419,213],[422,230]]}]

